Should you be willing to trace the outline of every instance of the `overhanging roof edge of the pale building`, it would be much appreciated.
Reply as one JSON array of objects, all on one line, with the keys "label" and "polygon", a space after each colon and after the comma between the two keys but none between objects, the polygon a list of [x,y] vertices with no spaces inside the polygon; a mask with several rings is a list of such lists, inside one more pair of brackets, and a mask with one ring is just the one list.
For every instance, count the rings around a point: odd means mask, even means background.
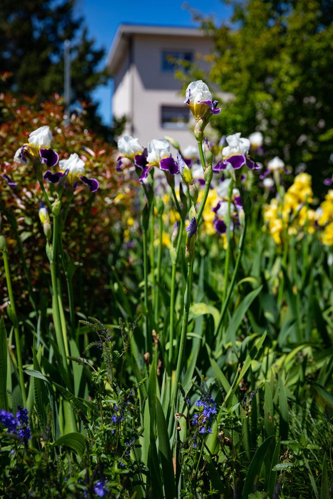
[{"label": "overhanging roof edge of the pale building", "polygon": [[106,69],[114,74],[129,46],[129,39],[135,34],[167,36],[207,36],[201,29],[184,26],[159,26],[149,24],[119,24],[106,58]]}]

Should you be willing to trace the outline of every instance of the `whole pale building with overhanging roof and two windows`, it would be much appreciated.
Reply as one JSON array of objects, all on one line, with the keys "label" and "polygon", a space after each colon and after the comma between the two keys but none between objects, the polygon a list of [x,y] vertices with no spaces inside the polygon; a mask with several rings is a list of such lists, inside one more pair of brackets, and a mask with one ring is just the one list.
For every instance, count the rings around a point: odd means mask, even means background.
[{"label": "whole pale building with overhanging roof and two windows", "polygon": [[181,82],[174,77],[175,61],[209,66],[212,40],[196,28],[121,24],[112,42],[107,70],[114,78],[112,115],[127,117],[125,133],[142,145],[171,136],[181,147],[194,144],[192,116],[184,105]]}]

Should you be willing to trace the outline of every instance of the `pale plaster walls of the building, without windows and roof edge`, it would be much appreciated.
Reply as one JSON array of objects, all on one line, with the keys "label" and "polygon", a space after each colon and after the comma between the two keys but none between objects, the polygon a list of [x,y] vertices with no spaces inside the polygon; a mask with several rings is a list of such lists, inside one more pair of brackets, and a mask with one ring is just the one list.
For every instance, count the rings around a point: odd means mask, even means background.
[{"label": "pale plaster walls of the building, without windows and roof edge", "polygon": [[[185,96],[180,93],[181,82],[174,74],[162,71],[162,51],[192,51],[194,62],[208,71],[208,64],[196,55],[209,54],[212,41],[204,37],[156,36],[135,34],[132,38],[132,68],[129,51],[115,76],[112,113],[120,118],[124,114],[131,123],[126,133],[138,137],[146,146],[153,138],[173,137],[182,148],[196,144],[192,132],[166,129],[161,126],[161,107],[185,106]],[[191,115],[192,117],[192,115]]]}]

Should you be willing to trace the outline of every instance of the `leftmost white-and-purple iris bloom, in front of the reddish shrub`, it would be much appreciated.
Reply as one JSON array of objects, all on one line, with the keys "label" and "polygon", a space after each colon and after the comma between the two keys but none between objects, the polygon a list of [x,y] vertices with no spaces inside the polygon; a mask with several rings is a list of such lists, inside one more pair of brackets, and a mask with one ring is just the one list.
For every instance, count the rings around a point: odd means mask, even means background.
[{"label": "leftmost white-and-purple iris bloom, in front of the reddish shrub", "polygon": [[27,165],[29,159],[39,159],[48,168],[55,166],[59,160],[58,154],[50,148],[52,134],[48,126],[42,126],[30,133],[28,143],[17,149],[14,161]]}]

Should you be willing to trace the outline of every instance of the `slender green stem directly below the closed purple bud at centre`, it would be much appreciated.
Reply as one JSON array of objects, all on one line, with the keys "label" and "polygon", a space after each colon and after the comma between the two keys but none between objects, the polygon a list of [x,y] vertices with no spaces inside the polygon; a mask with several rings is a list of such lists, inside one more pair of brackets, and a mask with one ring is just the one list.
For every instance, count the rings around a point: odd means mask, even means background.
[{"label": "slender green stem directly below the closed purple bud at centre", "polygon": [[[183,323],[182,323],[182,332],[180,335],[176,376],[175,376],[175,381],[174,381],[174,385],[173,385],[172,404],[171,404],[172,409],[171,410],[175,409],[177,406],[177,397],[178,397],[178,389],[179,389],[178,384],[180,381],[180,375],[181,375],[183,363],[184,363],[185,343],[186,343],[186,336],[187,336],[187,325],[188,325],[188,317],[189,317],[190,305],[191,305],[191,291],[192,291],[192,278],[193,278],[193,256],[194,256],[193,254],[190,255],[189,261],[187,263],[187,278],[186,278],[186,289],[185,289],[185,295],[184,295]],[[170,417],[171,424],[172,424],[172,421],[173,421],[173,418]],[[170,430],[170,428],[169,428],[169,430]]]}]

